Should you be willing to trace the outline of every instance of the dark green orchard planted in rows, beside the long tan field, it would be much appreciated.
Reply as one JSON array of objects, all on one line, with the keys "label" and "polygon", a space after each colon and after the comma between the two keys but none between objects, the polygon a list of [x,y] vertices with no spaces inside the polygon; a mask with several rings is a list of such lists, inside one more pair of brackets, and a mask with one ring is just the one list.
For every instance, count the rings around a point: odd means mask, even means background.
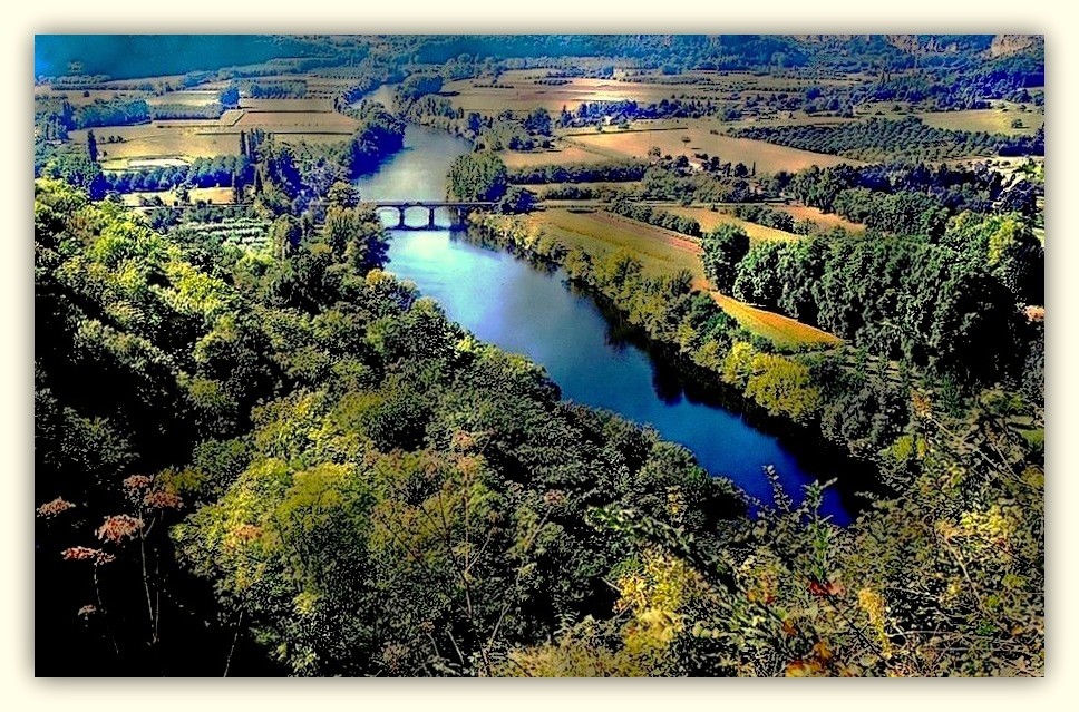
[{"label": "dark green orchard planted in rows, beside the long tan field", "polygon": [[1046,153],[1044,129],[1034,136],[953,131],[930,126],[915,116],[901,120],[872,117],[838,126],[752,126],[733,129],[731,135],[869,162]]}]

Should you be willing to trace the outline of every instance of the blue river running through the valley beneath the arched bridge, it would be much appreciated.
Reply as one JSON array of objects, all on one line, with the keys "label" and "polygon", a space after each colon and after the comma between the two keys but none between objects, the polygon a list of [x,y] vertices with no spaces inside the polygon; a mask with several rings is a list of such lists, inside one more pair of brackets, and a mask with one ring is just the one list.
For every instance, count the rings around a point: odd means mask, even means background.
[{"label": "blue river running through the valley beneath the arched bridge", "polygon": [[[409,125],[405,148],[357,182],[361,199],[441,199],[449,165],[468,150],[460,138]],[[397,216],[383,220],[396,225]],[[426,224],[426,212],[412,211],[407,221]],[[449,216],[439,215],[438,222],[448,224]],[[390,272],[414,281],[479,339],[543,365],[563,398],[652,426],[664,439],[692,450],[709,472],[730,478],[764,503],[772,500],[766,465],[775,467],[796,501],[804,485],[833,476],[823,467],[829,459],[799,438],[781,441],[781,432],[751,425],[729,398],[710,393],[650,354],[647,343],[605,316],[594,300],[568,289],[561,271],[537,269],[448,228],[392,230],[390,235]],[[836,524],[850,520],[850,505],[837,489],[826,490],[823,510]]]}]

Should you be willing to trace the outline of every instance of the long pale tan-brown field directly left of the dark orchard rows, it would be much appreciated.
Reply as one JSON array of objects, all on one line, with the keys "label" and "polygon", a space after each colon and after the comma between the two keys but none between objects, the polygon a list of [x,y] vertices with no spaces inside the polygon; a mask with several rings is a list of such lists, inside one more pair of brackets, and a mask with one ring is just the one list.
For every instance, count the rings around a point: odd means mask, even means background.
[{"label": "long pale tan-brown field directly left of the dark orchard rows", "polygon": [[[682,140],[688,138],[689,140]],[[777,146],[748,138],[733,138],[711,134],[701,126],[690,126],[682,130],[640,130],[604,131],[602,134],[577,135],[565,139],[582,149],[597,150],[607,158],[644,158],[649,148],[659,146],[664,155],[692,157],[696,153],[719,156],[723,162],[757,165],[758,174],[778,170],[795,172],[811,165],[836,166],[840,163],[861,165],[858,162],[839,156],[816,154],[798,148]]]}]

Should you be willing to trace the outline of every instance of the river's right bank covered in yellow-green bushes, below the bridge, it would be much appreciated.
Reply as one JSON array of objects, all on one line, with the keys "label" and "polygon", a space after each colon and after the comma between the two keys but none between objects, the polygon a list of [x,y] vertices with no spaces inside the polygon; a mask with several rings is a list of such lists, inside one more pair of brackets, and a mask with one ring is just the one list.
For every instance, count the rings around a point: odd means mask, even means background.
[{"label": "river's right bank covered in yellow-green bushes, below the bridge", "polygon": [[823,432],[825,388],[815,373],[825,362],[838,362],[838,357],[784,355],[742,341],[735,335],[739,332],[737,323],[709,294],[684,280],[649,276],[640,262],[624,252],[594,256],[580,245],[566,247],[547,234],[507,227],[492,215],[473,216],[466,235],[563,269],[576,289],[605,305],[610,316],[624,320],[650,352],[661,355],[680,374],[709,383],[713,392],[723,393],[729,407],[768,430],[786,431],[786,440],[813,451],[814,459],[837,458],[835,471],[846,475],[840,488],[845,499],[857,491],[886,491],[876,462]]}]

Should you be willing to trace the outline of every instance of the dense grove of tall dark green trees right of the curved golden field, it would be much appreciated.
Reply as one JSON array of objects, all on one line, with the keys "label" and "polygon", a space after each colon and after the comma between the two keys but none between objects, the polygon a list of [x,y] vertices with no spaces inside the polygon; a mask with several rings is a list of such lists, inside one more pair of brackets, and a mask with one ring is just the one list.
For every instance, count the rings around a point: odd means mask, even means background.
[{"label": "dense grove of tall dark green trees right of the curved golden field", "polygon": [[[971,213],[936,238],[805,237],[740,248],[706,240],[720,290],[964,387],[1019,389],[1041,337],[1044,251],[1021,216]],[[748,247],[748,248],[747,248]],[[741,253],[741,256],[739,256]],[[733,265],[733,270],[731,270]]]}]

